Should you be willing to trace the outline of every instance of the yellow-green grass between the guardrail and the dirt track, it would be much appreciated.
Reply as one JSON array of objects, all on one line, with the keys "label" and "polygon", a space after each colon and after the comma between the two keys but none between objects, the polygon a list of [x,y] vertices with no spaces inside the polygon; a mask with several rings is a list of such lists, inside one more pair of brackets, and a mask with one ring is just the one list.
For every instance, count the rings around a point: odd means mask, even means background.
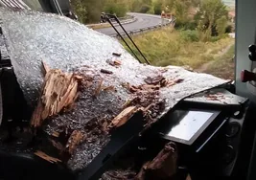
[{"label": "yellow-green grass between the guardrail and the dirt track", "polygon": [[[234,41],[229,37],[223,37],[214,42],[201,42],[193,35],[194,33],[190,35],[192,37],[187,38],[188,35],[182,31],[165,28],[133,36],[133,40],[153,65],[188,65],[193,69],[219,58],[225,48]],[[124,43],[123,45],[125,46]],[[139,55],[134,48],[132,49]]]}]

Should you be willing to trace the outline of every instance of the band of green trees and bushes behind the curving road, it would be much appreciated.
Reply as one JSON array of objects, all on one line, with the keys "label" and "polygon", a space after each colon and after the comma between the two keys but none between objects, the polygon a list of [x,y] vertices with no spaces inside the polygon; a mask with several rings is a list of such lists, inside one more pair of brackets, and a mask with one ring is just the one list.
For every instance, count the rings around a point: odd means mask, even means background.
[{"label": "band of green trees and bushes behind the curving road", "polygon": [[228,11],[221,0],[71,0],[71,3],[82,23],[99,22],[103,11],[119,17],[128,11],[155,14],[166,11],[175,15],[175,28],[188,30],[191,36],[198,31],[203,40],[225,34],[228,26]]}]

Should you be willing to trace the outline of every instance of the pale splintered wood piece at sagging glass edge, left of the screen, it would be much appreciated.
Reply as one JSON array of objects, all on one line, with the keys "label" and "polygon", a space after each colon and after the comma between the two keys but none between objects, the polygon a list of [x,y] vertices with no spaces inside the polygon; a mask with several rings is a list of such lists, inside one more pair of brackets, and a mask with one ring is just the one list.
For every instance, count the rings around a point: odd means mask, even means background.
[{"label": "pale splintered wood piece at sagging glass edge, left of the screen", "polygon": [[109,124],[109,128],[120,127],[128,122],[128,119],[137,111],[136,106],[130,106],[124,109],[119,115],[117,115]]}]

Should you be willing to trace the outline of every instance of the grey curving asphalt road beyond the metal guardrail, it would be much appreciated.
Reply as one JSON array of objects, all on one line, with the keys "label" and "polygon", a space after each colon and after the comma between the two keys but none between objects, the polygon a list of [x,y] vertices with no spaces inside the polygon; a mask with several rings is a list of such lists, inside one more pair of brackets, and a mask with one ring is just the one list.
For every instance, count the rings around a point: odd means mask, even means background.
[{"label": "grey curving asphalt road beyond the metal guardrail", "polygon": [[[129,12],[129,15],[135,16],[137,19],[135,22],[125,24],[123,27],[127,30],[127,32],[140,30],[143,28],[150,28],[152,26],[160,25],[162,23],[162,19],[160,15],[151,15],[146,13],[134,13]],[[120,33],[124,33],[120,26],[116,26],[117,30]],[[97,32],[107,35],[116,34],[115,30],[111,28],[98,29]]]}]

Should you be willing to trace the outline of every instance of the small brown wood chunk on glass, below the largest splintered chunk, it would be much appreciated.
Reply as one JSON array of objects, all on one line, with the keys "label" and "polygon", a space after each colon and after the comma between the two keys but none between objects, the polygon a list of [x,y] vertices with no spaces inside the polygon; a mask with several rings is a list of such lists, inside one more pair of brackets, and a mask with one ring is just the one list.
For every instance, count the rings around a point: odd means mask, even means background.
[{"label": "small brown wood chunk on glass, below the largest splintered chunk", "polygon": [[84,134],[80,130],[74,130],[70,135],[66,148],[68,149],[69,154],[73,154],[77,146],[81,144],[81,141],[84,138]]}]

